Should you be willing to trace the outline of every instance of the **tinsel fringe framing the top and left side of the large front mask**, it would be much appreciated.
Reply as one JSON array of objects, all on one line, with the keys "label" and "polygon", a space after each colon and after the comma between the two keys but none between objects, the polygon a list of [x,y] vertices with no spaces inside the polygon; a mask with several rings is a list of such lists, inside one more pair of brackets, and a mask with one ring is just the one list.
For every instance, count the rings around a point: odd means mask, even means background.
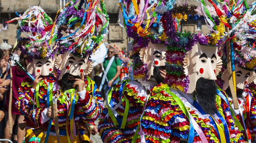
[{"label": "tinsel fringe framing the top and left side of the large front mask", "polygon": [[176,38],[169,39],[166,51],[166,78],[164,83],[167,83],[172,88],[178,88],[183,92],[187,92],[189,77],[183,71],[183,61],[187,51],[199,42],[202,45],[209,44],[209,38],[200,33],[182,32],[176,33]]}]

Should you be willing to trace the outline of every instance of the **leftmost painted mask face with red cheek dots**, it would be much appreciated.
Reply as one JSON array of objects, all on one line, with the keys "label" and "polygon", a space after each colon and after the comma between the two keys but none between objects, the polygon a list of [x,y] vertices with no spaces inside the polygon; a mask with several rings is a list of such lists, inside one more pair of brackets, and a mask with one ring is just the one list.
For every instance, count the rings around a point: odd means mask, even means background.
[{"label": "leftmost painted mask face with red cheek dots", "polygon": [[51,58],[46,59],[33,59],[27,66],[30,74],[34,73],[35,76],[40,74],[41,76],[49,76],[53,71],[53,60]]}]

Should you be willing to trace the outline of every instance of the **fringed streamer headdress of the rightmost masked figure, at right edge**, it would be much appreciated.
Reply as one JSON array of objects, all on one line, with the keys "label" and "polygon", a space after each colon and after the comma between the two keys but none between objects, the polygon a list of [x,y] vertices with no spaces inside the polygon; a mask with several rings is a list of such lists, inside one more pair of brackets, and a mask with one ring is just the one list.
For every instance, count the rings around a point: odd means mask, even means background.
[{"label": "fringed streamer headdress of the rightmost masked figure, at right edge", "polygon": [[[233,8],[233,16],[231,19],[232,29],[227,34],[233,34],[230,38],[233,40],[234,49],[234,65],[238,64],[238,67],[245,69],[247,71],[256,71],[256,15],[252,15],[256,7],[256,2],[252,5],[247,5],[246,1],[242,4],[238,4]],[[224,84],[224,79],[227,78],[227,50],[226,45],[223,44],[222,47],[222,70],[220,75],[217,76],[217,85],[222,87]],[[254,75],[247,84],[252,84],[255,79]]]}]

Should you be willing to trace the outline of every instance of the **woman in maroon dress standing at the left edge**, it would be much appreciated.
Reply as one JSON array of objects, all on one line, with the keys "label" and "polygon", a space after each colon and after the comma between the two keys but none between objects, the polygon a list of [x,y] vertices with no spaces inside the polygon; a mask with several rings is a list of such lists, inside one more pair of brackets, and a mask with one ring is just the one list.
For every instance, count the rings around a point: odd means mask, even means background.
[{"label": "woman in maroon dress standing at the left edge", "polygon": [[[18,57],[19,63],[24,68],[26,68],[27,67],[26,57],[23,54],[21,54],[19,52],[19,50],[14,51],[13,55],[15,55],[15,54],[20,55],[19,57],[16,55],[16,58]],[[12,125],[13,125],[16,117],[17,117],[17,124],[24,122],[23,121],[24,116],[21,115],[21,113],[18,111],[17,108],[14,107],[14,105],[15,105],[17,98],[19,97],[19,95],[18,95],[19,85],[21,84],[22,81],[24,81],[29,76],[25,73],[25,71],[23,71],[19,66],[16,66],[16,65],[11,67],[11,71],[12,71],[12,79],[15,79],[15,82],[12,82],[12,105],[13,105],[13,108],[11,108],[11,117],[12,117]],[[9,108],[9,98],[10,98],[9,95],[10,95],[10,91],[8,92],[7,98],[6,98],[6,106],[5,106],[6,111],[8,111],[8,108]],[[21,130],[20,128],[18,128],[17,143],[22,143],[24,134],[25,134],[25,130]],[[9,119],[7,119],[7,124],[6,124],[5,132],[4,132],[4,138],[6,138],[6,139],[11,138],[11,135],[9,134]]]}]

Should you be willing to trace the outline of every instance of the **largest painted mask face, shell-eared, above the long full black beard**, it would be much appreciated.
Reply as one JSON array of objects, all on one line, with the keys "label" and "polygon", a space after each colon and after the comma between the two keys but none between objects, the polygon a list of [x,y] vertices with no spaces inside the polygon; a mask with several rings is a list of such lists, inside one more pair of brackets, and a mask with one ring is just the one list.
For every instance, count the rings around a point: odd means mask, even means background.
[{"label": "largest painted mask face, shell-eared, above the long full black beard", "polygon": [[221,70],[222,60],[217,54],[217,47],[203,46],[197,43],[184,58],[184,72],[189,77],[187,93],[193,93],[200,77],[216,80]]}]

